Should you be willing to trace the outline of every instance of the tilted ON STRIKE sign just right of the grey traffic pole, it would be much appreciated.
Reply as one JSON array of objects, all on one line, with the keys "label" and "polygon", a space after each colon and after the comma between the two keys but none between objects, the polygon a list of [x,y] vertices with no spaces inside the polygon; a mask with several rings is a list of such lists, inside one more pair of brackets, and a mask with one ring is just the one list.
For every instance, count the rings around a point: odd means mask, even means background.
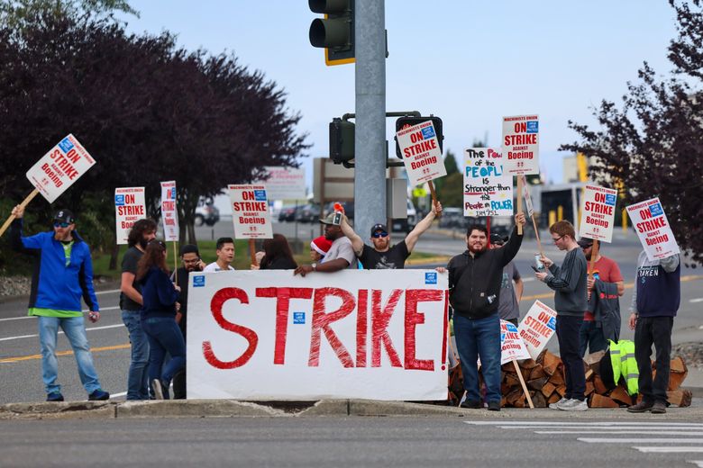
[{"label": "tilted ON STRIKE sign just right of the grey traffic pole", "polygon": [[403,154],[407,178],[415,186],[447,175],[432,121],[398,130],[397,144]]}]

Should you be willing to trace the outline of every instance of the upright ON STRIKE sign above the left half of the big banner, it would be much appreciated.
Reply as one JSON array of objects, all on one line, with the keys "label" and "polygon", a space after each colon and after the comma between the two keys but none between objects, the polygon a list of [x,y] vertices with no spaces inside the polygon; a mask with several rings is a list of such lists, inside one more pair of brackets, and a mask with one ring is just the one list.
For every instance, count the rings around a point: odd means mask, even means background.
[{"label": "upright ON STRIKE sign above the left half of the big banner", "polygon": [[235,238],[272,238],[273,227],[264,185],[228,185]]}]

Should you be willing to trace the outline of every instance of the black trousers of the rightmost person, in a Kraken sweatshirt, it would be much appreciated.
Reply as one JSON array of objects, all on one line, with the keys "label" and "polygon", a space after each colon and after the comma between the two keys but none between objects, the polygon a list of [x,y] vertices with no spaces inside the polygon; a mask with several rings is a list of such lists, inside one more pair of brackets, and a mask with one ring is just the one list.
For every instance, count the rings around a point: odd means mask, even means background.
[{"label": "black trousers of the rightmost person, in a Kraken sweatshirt", "polygon": [[[671,329],[673,317],[638,317],[635,326],[635,359],[640,372],[638,386],[642,400],[666,404],[671,366]],[[656,350],[657,375],[652,383],[652,345]]]}]

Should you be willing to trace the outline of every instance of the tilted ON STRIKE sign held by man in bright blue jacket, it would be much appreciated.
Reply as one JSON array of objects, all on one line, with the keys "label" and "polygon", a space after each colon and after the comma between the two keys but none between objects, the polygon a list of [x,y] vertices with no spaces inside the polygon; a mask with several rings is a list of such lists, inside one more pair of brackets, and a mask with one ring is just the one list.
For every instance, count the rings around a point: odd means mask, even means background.
[{"label": "tilted ON STRIKE sign held by man in bright blue jacket", "polygon": [[96,160],[78,143],[78,139],[68,135],[41,157],[26,175],[39,193],[53,203],[94,164]]}]

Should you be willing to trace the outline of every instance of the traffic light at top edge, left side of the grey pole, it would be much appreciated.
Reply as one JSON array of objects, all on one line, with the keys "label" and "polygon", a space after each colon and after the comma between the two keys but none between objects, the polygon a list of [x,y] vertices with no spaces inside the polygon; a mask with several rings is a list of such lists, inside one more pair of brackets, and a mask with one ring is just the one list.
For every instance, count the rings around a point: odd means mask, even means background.
[{"label": "traffic light at top edge, left side of the grey pole", "polygon": [[310,24],[310,43],[324,48],[324,63],[354,62],[354,0],[308,0],[314,13],[324,14]]}]

